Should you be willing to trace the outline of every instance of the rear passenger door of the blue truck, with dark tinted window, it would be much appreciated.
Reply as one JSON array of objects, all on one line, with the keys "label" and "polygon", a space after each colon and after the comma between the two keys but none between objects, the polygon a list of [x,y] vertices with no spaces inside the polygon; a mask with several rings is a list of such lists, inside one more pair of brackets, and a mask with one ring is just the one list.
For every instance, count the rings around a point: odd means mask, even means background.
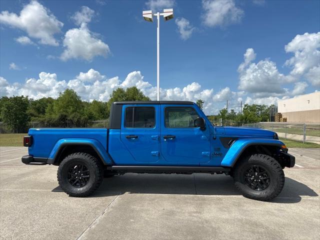
[{"label": "rear passenger door of the blue truck, with dark tinted window", "polygon": [[159,159],[159,105],[123,105],[121,142],[136,162]]}]

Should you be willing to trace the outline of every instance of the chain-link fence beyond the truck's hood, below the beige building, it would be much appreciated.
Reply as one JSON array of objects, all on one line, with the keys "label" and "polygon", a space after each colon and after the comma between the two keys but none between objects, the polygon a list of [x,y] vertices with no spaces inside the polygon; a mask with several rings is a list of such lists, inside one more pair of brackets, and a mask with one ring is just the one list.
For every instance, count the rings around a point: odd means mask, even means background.
[{"label": "chain-link fence beyond the truck's hood, below the beige building", "polygon": [[320,123],[256,122],[242,126],[272,130],[285,139],[320,143]]}]

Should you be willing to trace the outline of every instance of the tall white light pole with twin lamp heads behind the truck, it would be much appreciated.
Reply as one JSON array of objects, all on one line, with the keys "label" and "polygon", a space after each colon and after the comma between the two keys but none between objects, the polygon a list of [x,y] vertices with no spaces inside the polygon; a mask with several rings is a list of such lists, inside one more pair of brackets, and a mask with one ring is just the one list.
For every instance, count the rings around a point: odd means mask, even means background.
[{"label": "tall white light pole with twin lamp heads behind the truck", "polygon": [[151,10],[142,11],[142,16],[146,21],[153,21],[153,16],[156,16],[156,100],[160,100],[160,16],[164,20],[173,18],[173,8],[163,9],[163,12],[152,13]]}]

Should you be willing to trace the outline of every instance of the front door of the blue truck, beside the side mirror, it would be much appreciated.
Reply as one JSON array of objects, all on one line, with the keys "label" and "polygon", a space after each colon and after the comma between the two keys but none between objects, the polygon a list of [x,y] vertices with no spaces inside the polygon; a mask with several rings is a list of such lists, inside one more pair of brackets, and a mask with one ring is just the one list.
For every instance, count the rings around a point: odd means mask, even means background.
[{"label": "front door of the blue truck, beside the side mirror", "polygon": [[210,160],[210,130],[194,126],[201,114],[193,105],[161,105],[161,156],[167,162],[187,164]]}]

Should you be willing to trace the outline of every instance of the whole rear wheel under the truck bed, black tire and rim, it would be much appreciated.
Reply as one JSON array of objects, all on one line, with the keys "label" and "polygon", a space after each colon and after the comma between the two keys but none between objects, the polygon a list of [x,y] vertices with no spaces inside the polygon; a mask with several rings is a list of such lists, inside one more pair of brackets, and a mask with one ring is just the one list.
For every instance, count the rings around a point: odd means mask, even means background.
[{"label": "whole rear wheel under the truck bed, black tire and rim", "polygon": [[70,196],[88,196],[100,186],[103,169],[92,155],[76,152],[62,160],[57,179],[62,190]]}]

